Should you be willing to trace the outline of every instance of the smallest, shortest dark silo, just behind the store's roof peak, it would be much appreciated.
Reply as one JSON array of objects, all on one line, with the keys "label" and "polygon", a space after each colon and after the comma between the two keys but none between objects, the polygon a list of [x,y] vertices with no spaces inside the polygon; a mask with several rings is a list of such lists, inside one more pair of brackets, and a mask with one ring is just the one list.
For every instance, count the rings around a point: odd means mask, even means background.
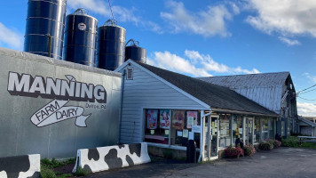
[{"label": "smallest, shortest dark silo, just behind the store's roof peak", "polygon": [[125,47],[125,61],[128,60],[146,63],[146,49],[139,47],[139,42],[133,39],[130,39]]}]

